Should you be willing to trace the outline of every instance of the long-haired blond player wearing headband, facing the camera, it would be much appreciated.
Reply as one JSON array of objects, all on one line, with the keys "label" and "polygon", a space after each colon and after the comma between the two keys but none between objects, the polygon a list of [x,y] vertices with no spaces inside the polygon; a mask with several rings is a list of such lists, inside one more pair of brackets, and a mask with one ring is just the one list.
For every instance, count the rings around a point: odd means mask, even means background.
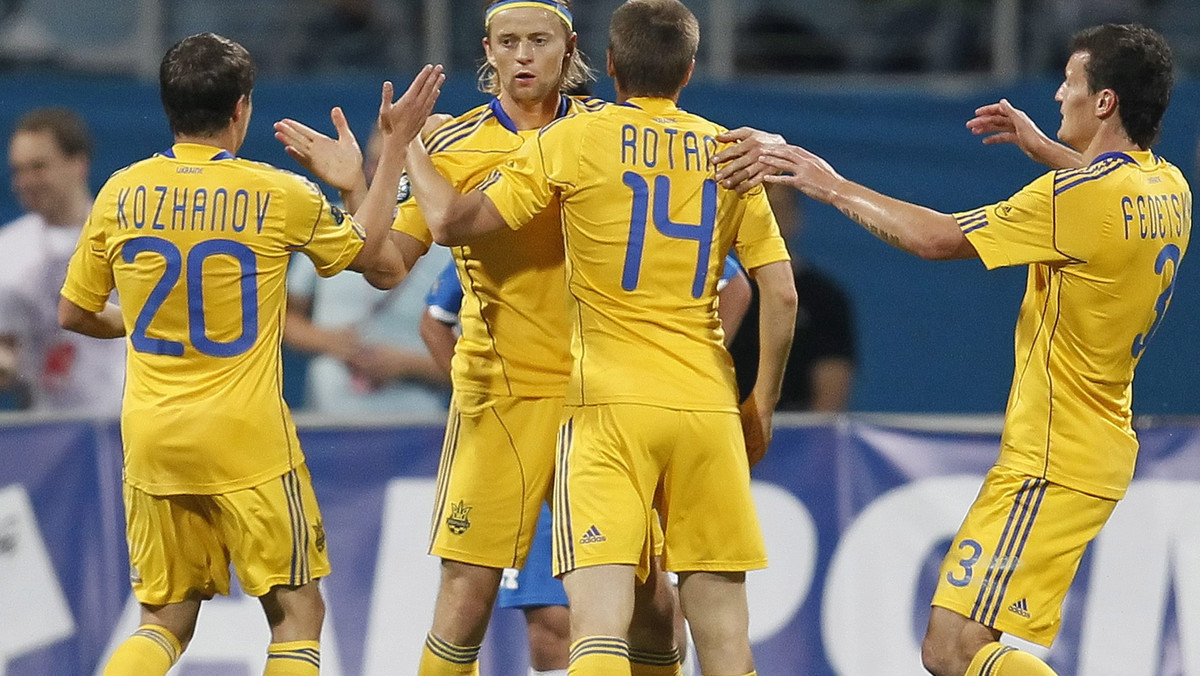
[{"label": "long-haired blond player wearing headband, facing the camera", "polygon": [[[486,65],[480,89],[494,98],[444,124],[427,138],[437,169],[460,190],[479,186],[544,125],[605,106],[565,96],[590,79],[576,47],[570,2],[494,0],[485,10]],[[348,204],[365,186],[353,134],[335,118],[338,140],[286,120],[277,126],[289,152]],[[344,169],[344,171],[343,171]],[[376,270],[372,283],[400,283],[433,238],[418,208],[402,199],[391,241],[404,265]],[[559,210],[550,205],[521,232],[497,233],[452,247],[463,285],[462,336],[455,347],[454,397],[446,426],[432,524],[431,554],[442,584],[419,674],[473,674],[504,568],[521,567],[547,499],[564,391],[570,377]],[[673,598],[665,575],[640,586],[634,627],[636,672],[678,669]],[[532,622],[565,630],[562,608]],[[548,671],[547,671],[548,674]]]}]

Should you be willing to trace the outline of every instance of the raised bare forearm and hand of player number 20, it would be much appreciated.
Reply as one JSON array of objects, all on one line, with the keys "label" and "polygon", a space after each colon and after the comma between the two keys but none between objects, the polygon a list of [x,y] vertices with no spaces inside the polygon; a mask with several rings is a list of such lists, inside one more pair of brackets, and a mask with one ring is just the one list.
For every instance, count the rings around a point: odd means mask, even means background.
[{"label": "raised bare forearm and hand of player number 20", "polygon": [[354,220],[366,229],[366,243],[350,262],[352,270],[366,274],[408,269],[404,251],[389,234],[396,209],[396,191],[408,160],[409,140],[420,133],[428,119],[444,80],[442,66],[425,66],[396,102],[392,102],[391,83],[384,83],[379,108],[383,154],[367,197],[354,213]]}]

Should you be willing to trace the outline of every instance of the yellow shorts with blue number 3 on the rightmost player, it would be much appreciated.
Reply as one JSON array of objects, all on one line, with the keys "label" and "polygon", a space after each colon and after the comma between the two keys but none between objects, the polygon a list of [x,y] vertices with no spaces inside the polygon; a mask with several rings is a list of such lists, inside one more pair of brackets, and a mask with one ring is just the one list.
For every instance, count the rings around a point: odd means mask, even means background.
[{"label": "yellow shorts with blue number 3 on the rightmost player", "polygon": [[942,561],[932,605],[1049,646],[1084,550],[1116,501],[995,466]]}]

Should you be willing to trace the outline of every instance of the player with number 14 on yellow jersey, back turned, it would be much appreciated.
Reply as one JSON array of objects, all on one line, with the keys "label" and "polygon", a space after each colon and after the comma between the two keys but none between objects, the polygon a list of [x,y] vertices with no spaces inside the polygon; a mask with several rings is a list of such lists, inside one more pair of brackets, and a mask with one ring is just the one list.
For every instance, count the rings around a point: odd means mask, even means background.
[{"label": "player with number 14 on yellow jersey, back turned", "polygon": [[[744,579],[766,551],[748,451],[761,454],[770,435],[796,291],[764,192],[720,189],[709,158],[724,130],[676,106],[698,40],[677,0],[626,2],[610,29],[620,104],[556,120],[466,195],[419,144],[409,154],[438,241],[524,232],[550,205],[562,216],[574,329],[553,507],[570,674],[630,674],[654,505],[702,672],[754,670]],[[742,417],[715,310],[731,246],[763,291],[760,379]]]}]

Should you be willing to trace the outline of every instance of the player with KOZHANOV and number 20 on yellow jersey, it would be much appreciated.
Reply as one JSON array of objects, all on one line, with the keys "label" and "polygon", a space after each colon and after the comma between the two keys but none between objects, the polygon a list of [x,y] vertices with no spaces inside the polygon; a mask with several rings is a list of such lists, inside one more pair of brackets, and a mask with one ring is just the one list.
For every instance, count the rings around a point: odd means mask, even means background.
[{"label": "player with KOZHANOV and number 20 on yellow jersey", "polygon": [[[426,66],[403,101],[430,110],[442,80]],[[175,143],[104,184],[62,287],[65,328],[128,341],[121,437],[142,626],[108,676],[166,674],[200,603],[229,593],[230,562],[266,614],[264,674],[319,670],[317,581],[329,558],[281,391],[287,262],[302,251],[323,275],[395,264],[385,233],[415,131],[390,126],[376,186],[349,216],[305,179],[235,157],[253,84],[250,54],[221,36],[167,52],[160,85]],[[397,109],[385,84],[380,115]],[[107,303],[114,287],[119,307]]]}]

